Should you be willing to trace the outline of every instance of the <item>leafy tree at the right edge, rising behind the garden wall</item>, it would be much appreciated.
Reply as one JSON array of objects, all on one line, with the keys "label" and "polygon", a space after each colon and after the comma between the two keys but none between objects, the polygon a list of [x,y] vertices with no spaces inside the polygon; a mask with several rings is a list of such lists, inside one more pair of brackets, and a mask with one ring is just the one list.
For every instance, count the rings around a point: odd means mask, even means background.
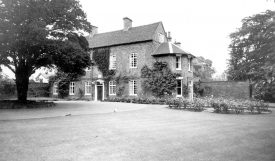
[{"label": "leafy tree at the right edge, rising behind the garden wall", "polygon": [[249,80],[258,87],[261,84],[272,87],[275,78],[275,11],[267,10],[244,18],[242,23],[242,27],[230,35],[229,79]]}]

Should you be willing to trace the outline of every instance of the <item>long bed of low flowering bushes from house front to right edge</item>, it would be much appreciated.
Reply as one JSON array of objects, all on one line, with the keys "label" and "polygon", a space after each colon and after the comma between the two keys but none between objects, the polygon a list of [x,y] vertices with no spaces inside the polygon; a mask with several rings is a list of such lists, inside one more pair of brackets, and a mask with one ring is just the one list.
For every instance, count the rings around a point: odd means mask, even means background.
[{"label": "long bed of low flowering bushes from house front to right edge", "polygon": [[203,111],[207,108],[213,108],[215,113],[224,114],[261,114],[270,113],[268,104],[261,100],[242,100],[242,99],[225,99],[225,98],[194,98],[190,101],[187,98],[110,98],[106,101],[110,102],[127,102],[139,104],[162,104],[168,105],[168,108]]}]

